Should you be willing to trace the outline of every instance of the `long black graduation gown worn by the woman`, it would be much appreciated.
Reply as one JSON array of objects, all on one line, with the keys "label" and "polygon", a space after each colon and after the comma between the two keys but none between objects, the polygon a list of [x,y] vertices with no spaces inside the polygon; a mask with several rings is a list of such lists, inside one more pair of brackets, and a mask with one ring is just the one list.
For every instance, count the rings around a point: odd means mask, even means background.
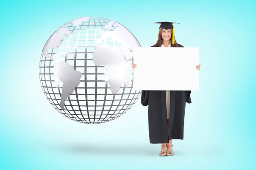
[{"label": "long black graduation gown worn by the woman", "polygon": [[[183,47],[178,44],[179,47]],[[157,44],[151,47],[159,47]],[[170,92],[169,134],[166,115],[166,91],[142,91],[141,104],[148,105],[148,130],[150,143],[169,143],[183,139],[186,102],[191,103],[191,91]]]}]

